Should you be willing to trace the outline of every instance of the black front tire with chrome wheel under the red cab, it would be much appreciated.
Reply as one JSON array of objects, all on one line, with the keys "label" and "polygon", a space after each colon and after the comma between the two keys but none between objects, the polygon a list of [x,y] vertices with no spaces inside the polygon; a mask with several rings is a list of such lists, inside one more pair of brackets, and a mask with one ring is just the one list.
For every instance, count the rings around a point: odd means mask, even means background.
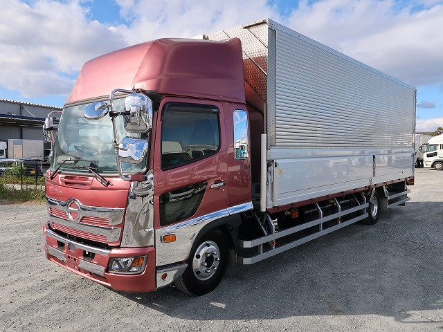
[{"label": "black front tire with chrome wheel under the red cab", "polygon": [[213,291],[226,272],[228,253],[228,243],[221,231],[211,230],[204,234],[192,246],[188,267],[174,282],[175,286],[180,291],[196,296]]}]

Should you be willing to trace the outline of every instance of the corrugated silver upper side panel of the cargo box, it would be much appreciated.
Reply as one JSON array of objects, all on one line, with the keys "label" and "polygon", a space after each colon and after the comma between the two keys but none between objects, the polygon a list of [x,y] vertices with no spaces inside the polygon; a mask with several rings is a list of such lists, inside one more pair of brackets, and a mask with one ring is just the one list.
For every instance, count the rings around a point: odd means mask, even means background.
[{"label": "corrugated silver upper side panel of the cargo box", "polygon": [[276,29],[275,147],[411,147],[415,89]]}]

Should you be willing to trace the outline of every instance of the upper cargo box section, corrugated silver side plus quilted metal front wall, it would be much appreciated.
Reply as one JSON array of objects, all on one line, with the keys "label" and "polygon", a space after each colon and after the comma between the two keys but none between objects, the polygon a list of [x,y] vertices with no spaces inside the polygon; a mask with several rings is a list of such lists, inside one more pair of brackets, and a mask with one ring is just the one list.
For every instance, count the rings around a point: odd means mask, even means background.
[{"label": "upper cargo box section, corrugated silver side plus quilted metal front wall", "polygon": [[271,19],[208,37],[242,40],[245,80],[266,102],[268,149],[412,146],[412,86]]}]

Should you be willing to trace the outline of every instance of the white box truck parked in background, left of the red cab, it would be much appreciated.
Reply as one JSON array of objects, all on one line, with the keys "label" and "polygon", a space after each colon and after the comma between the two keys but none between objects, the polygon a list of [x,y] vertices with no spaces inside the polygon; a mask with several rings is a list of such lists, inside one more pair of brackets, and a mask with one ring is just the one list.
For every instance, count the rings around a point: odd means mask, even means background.
[{"label": "white box truck parked in background, left of the red cab", "polygon": [[0,142],[0,159],[30,158],[44,160],[43,140],[8,140]]}]

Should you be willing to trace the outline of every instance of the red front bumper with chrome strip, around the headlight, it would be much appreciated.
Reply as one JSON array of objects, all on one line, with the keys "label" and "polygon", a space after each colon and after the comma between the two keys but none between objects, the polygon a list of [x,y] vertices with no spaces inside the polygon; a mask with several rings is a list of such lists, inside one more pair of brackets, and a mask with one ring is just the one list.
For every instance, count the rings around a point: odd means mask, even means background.
[{"label": "red front bumper with chrome strip, around the headlight", "polygon": [[[116,291],[150,292],[156,289],[155,248],[114,248],[111,250],[66,239],[44,224],[46,258],[73,273],[109,286]],[[111,257],[147,256],[143,272],[137,275],[109,273]]]}]

